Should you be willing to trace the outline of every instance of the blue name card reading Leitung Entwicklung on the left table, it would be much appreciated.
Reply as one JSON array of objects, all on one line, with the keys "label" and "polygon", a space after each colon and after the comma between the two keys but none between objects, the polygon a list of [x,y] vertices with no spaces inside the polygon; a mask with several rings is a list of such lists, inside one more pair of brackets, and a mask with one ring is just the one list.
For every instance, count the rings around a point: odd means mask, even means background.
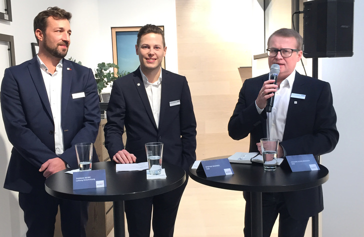
[{"label": "blue name card reading Leitung Entwicklung on the left table", "polygon": [[104,169],[73,172],[73,190],[95,187],[106,187]]}]

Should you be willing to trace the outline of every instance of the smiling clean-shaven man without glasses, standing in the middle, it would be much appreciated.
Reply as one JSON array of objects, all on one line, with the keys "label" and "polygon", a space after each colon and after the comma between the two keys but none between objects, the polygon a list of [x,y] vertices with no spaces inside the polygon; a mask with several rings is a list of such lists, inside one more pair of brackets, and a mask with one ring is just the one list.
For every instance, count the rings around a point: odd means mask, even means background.
[{"label": "smiling clean-shaven man without glasses, standing in the middle", "polygon": [[[163,163],[187,171],[196,159],[196,120],[186,78],[161,68],[166,47],[158,27],[142,27],[135,50],[140,67],[112,85],[104,128],[108,154],[116,163],[145,162],[144,144],[162,142]],[[125,201],[129,236],[149,236],[152,209],[154,236],[173,236],[186,183],[164,194]]]}]

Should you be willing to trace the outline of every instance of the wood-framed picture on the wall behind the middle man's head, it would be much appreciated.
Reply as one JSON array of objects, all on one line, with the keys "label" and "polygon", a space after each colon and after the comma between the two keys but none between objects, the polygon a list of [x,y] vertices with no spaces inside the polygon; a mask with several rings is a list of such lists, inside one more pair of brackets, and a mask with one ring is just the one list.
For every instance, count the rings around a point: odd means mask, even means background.
[{"label": "wood-framed picture on the wall behind the middle man's head", "polygon": [[[135,52],[138,31],[141,27],[111,28],[113,63],[119,66],[120,73],[130,73],[140,65]],[[164,31],[164,27],[159,26]],[[162,68],[165,69],[164,58]]]}]

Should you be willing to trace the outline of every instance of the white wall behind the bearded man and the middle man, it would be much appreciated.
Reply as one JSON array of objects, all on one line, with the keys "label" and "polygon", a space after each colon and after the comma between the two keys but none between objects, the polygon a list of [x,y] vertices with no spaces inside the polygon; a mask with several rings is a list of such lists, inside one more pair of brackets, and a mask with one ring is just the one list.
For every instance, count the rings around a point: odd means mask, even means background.
[{"label": "white wall behind the bearded man and the middle man", "polygon": [[[16,64],[32,58],[30,43],[36,42],[32,25],[34,17],[54,6],[72,13],[67,59],[72,57],[94,70],[97,63],[112,62],[111,27],[154,24],[164,26],[166,69],[178,72],[175,2],[170,0],[12,0],[12,22],[0,20],[0,34],[14,36]],[[2,77],[3,71],[0,79]],[[0,117],[0,237],[23,237],[26,226],[18,206],[17,192],[2,188],[10,149]]]}]

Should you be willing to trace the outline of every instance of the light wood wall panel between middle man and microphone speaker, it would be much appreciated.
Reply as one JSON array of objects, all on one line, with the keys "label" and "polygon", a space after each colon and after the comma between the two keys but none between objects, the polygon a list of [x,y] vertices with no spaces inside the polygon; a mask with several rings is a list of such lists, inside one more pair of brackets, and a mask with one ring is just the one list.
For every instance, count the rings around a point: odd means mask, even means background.
[{"label": "light wood wall panel between middle man and microphone speaker", "polygon": [[[227,123],[251,67],[250,1],[176,0],[178,73],[186,76],[197,120],[197,159],[248,151],[232,140]],[[242,14],[244,12],[244,14]],[[244,77],[251,77],[245,73]]]}]

